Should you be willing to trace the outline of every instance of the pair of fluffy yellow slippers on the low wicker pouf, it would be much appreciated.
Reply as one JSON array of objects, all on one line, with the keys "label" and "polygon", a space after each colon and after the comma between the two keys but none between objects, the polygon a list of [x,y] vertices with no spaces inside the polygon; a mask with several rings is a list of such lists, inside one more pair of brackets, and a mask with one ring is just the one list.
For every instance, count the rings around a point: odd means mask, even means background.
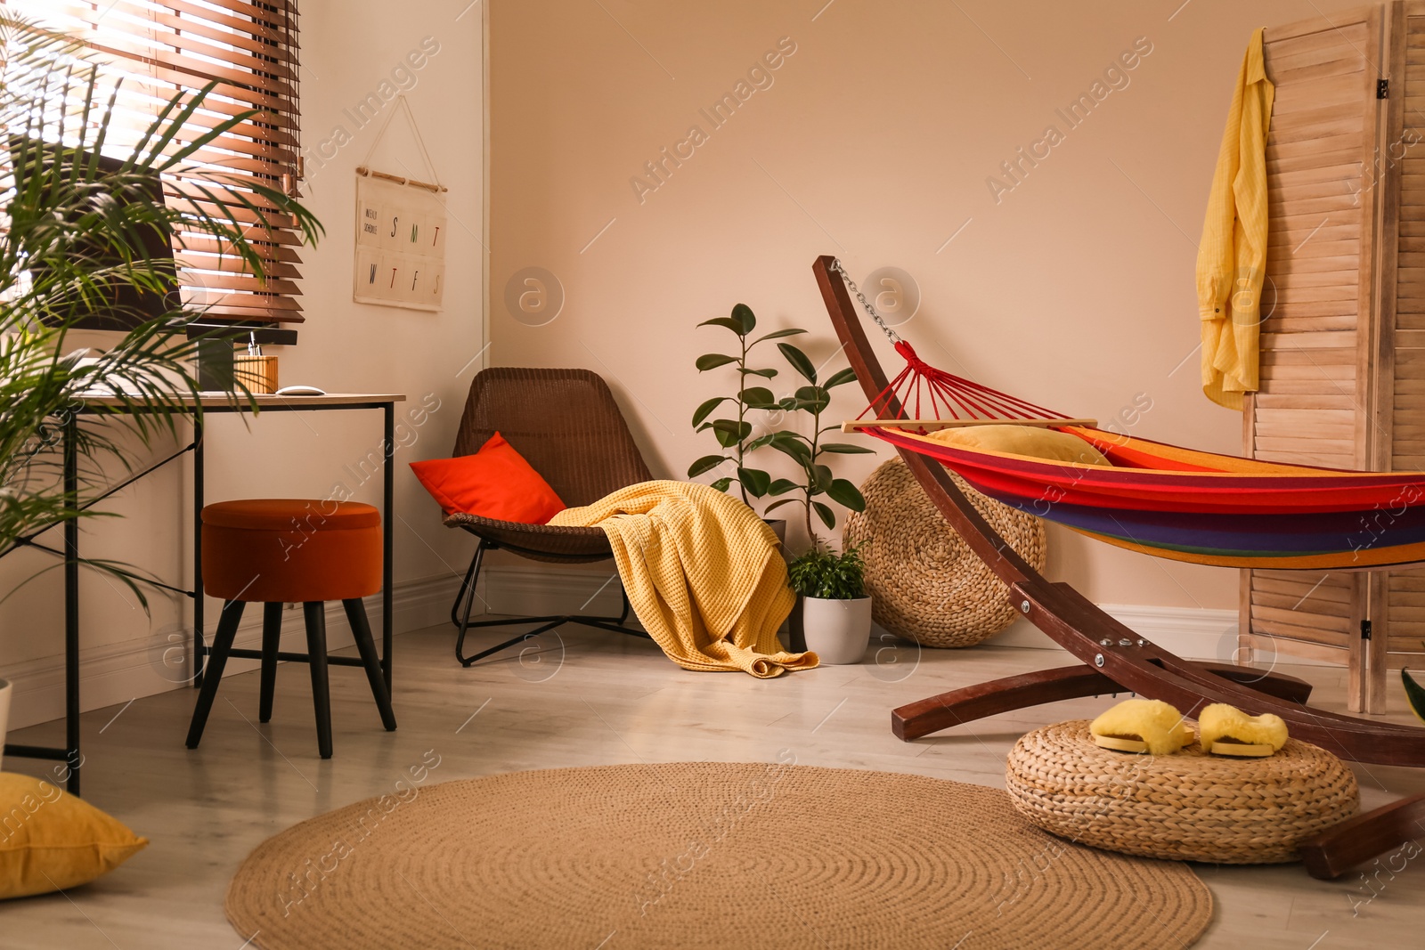
[{"label": "pair of fluffy yellow slippers on the low wicker pouf", "polygon": [[1234,758],[1265,758],[1287,743],[1281,716],[1250,716],[1214,702],[1197,715],[1197,731],[1161,699],[1124,699],[1089,725],[1094,745],[1116,752],[1171,755],[1197,739],[1206,752]]}]

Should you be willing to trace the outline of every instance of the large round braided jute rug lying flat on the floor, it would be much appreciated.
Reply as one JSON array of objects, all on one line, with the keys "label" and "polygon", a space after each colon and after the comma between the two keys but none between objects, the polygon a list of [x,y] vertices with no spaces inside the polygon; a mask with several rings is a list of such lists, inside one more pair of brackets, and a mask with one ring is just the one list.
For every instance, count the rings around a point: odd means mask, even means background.
[{"label": "large round braided jute rug lying flat on the floor", "polygon": [[262,843],[228,889],[238,933],[264,950],[1180,950],[1213,913],[1183,865],[1060,842],[1005,792],[915,775],[677,762],[408,792]]}]

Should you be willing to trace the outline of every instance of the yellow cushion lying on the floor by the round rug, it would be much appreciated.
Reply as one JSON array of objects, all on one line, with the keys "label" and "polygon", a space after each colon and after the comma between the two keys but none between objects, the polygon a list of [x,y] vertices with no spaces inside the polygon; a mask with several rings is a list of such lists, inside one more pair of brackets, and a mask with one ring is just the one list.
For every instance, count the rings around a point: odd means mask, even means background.
[{"label": "yellow cushion lying on the floor by the round rug", "polygon": [[87,884],[147,845],[57,785],[0,772],[0,900]]}]

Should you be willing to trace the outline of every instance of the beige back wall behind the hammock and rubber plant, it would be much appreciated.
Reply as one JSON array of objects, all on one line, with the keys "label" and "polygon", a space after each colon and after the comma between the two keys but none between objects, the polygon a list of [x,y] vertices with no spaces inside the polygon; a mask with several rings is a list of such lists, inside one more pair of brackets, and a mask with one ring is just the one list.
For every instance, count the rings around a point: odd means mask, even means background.
[{"label": "beige back wall behind the hammock and rubber plant", "polygon": [[[650,464],[678,477],[714,449],[694,407],[730,386],[693,369],[724,342],[694,325],[745,302],[829,356],[809,268],[835,254],[856,279],[915,278],[903,332],[932,363],[1104,423],[1150,400],[1133,434],[1238,451],[1240,416],[1198,389],[1193,291],[1231,87],[1253,27],[1354,4],[822,3],[493,0],[494,362],[603,373]],[[795,51],[771,85],[735,90],[779,41]],[[721,127],[700,114],[748,90]],[[1056,114],[1094,93],[1077,127]],[[691,157],[653,189],[664,147]],[[1047,157],[1013,182],[1000,164],[1020,147]],[[566,293],[543,326],[503,301],[527,266]],[[854,389],[832,414],[861,410]],[[864,459],[842,471],[859,481]],[[1235,607],[1233,571],[1063,530],[1050,544],[1049,575],[1099,602]]]}]

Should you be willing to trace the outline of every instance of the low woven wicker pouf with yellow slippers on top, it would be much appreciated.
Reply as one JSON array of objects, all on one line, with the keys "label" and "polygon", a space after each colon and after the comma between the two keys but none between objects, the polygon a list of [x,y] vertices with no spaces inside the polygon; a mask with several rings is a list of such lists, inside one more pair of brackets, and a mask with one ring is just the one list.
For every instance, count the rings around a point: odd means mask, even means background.
[{"label": "low woven wicker pouf with yellow slippers on top", "polygon": [[1015,808],[1080,845],[1221,865],[1297,860],[1297,842],[1357,812],[1355,775],[1325,749],[1287,739],[1264,759],[1100,749],[1087,719],[1035,729],[1005,771]]}]

